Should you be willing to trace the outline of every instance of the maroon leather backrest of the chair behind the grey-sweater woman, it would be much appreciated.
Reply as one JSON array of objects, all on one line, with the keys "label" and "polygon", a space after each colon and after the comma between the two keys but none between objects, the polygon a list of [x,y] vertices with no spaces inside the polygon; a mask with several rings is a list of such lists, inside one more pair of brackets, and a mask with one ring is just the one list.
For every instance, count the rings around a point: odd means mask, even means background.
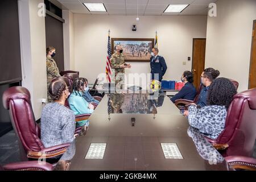
[{"label": "maroon leather backrest of the chair behind the grey-sweater woman", "polygon": [[13,86],[3,93],[3,106],[9,110],[11,123],[24,151],[41,151],[40,127],[35,122],[30,92],[22,86]]}]

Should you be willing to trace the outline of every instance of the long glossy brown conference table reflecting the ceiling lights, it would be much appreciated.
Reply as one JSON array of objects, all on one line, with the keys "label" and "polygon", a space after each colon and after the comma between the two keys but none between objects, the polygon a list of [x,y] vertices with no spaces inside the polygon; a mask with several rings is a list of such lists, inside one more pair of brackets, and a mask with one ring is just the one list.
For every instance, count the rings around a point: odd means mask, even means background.
[{"label": "long glossy brown conference table reflecting the ceiling lights", "polygon": [[69,170],[228,169],[164,94],[106,93],[89,122],[60,159],[71,162]]}]

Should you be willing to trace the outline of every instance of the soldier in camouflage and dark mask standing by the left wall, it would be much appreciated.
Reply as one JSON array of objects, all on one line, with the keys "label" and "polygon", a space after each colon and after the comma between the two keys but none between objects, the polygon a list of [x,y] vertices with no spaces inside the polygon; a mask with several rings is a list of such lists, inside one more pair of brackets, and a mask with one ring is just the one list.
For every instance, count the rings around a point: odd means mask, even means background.
[{"label": "soldier in camouflage and dark mask standing by the left wall", "polygon": [[46,68],[47,68],[47,98],[48,102],[52,102],[52,98],[50,97],[50,94],[48,92],[49,85],[51,84],[52,78],[56,76],[60,76],[59,68],[57,67],[57,64],[55,60],[52,58],[55,56],[55,48],[54,47],[48,47],[46,49]]}]

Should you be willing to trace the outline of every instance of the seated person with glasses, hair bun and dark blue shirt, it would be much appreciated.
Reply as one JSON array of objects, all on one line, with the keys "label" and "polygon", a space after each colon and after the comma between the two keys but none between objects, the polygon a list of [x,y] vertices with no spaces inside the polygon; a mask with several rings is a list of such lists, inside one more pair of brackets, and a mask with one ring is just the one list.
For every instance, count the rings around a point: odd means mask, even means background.
[{"label": "seated person with glasses, hair bun and dark blue shirt", "polygon": [[220,72],[213,68],[207,68],[201,74],[201,84],[204,85],[203,89],[199,94],[199,100],[196,105],[199,107],[204,107],[207,105],[207,94],[210,88],[210,84],[220,75]]}]

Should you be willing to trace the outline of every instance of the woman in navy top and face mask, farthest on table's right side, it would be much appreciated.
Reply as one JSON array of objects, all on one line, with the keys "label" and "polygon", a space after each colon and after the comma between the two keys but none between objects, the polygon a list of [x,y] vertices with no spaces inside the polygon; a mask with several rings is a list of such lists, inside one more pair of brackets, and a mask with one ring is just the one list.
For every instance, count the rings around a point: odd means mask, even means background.
[{"label": "woman in navy top and face mask, farthest on table's right side", "polygon": [[185,71],[181,76],[181,81],[184,82],[185,85],[179,93],[175,94],[175,96],[171,98],[171,101],[175,102],[177,99],[180,98],[186,100],[194,100],[196,97],[196,88],[193,85],[193,73]]}]

